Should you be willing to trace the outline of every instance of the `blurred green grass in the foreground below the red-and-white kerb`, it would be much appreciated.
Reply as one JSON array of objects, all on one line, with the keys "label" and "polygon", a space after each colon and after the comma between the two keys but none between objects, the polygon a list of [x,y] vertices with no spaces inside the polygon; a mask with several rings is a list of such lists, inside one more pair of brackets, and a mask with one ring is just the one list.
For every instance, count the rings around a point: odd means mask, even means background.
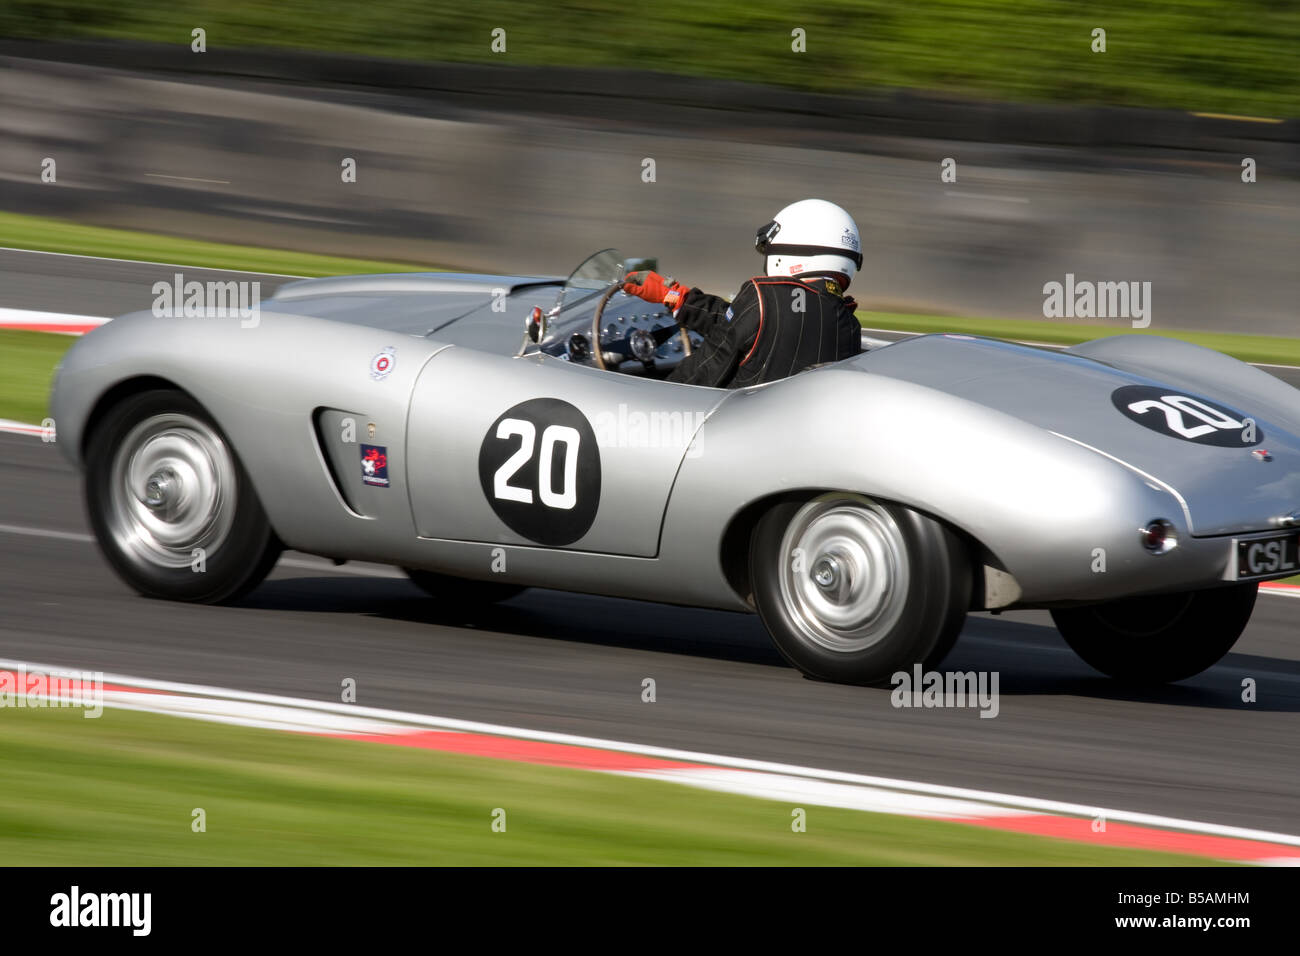
[{"label": "blurred green grass in the foreground below the red-and-white kerb", "polygon": [[1209,862],[117,710],[0,710],[0,771],[9,866]]}]

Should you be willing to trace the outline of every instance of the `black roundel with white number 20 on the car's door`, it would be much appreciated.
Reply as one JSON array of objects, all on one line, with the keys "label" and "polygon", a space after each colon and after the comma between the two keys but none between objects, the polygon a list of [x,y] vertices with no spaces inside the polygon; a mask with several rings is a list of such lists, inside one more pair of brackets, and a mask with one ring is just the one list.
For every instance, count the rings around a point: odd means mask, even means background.
[{"label": "black roundel with white number 20 on the car's door", "polygon": [[520,402],[484,436],[478,480],[511,531],[543,545],[573,544],[601,506],[595,432],[568,402]]}]

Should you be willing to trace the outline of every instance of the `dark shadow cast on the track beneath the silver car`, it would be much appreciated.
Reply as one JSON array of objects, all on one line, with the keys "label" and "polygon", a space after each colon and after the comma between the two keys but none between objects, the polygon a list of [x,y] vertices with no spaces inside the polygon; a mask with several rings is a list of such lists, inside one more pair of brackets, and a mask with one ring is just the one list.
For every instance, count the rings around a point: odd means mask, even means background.
[{"label": "dark shadow cast on the track beneath the silver car", "polygon": [[[588,645],[682,654],[792,670],[755,615],[677,607],[625,598],[533,588],[497,605],[456,607],[399,579],[285,578],[240,601],[266,610],[354,614]],[[974,615],[941,671],[997,671],[998,693],[1165,704],[1218,710],[1300,713],[1300,662],[1228,654],[1218,666],[1178,684],[1134,687],[1093,671],[1054,627]],[[1258,685],[1242,700],[1242,680]]]}]

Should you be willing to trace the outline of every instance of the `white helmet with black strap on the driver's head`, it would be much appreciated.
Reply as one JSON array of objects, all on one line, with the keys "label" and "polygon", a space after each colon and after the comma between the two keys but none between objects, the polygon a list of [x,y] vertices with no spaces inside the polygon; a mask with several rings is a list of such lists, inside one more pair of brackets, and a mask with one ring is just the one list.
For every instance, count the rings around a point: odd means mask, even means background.
[{"label": "white helmet with black strap on the driver's head", "polygon": [[768,276],[842,276],[848,286],[862,268],[858,224],[824,199],[786,206],[758,230],[754,248],[767,256]]}]

